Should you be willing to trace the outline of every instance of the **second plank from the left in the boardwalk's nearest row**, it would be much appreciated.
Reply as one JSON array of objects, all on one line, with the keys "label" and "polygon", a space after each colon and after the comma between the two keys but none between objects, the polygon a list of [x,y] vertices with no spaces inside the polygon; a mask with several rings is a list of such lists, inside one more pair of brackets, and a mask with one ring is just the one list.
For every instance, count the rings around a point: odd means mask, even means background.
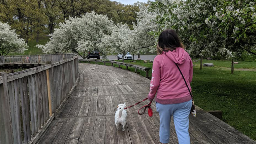
[{"label": "second plank from the left in the boardwalk's nearest row", "polygon": [[61,126],[59,132],[57,133],[56,137],[54,138],[52,144],[63,144],[66,141],[66,138],[69,134],[70,129],[73,126],[75,119],[66,119],[64,125]]}]

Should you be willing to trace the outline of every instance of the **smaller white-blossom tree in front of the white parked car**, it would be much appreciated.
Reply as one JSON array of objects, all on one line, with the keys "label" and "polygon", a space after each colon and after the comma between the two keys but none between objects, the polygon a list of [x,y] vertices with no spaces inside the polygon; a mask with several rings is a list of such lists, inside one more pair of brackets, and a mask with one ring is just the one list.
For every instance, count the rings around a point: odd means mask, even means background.
[{"label": "smaller white-blossom tree in front of the white parked car", "polygon": [[[127,24],[118,23],[117,28],[111,35],[105,35],[102,39],[101,47],[108,47],[111,53],[123,54],[133,53],[132,47],[133,33]],[[123,57],[124,62],[124,57]]]}]

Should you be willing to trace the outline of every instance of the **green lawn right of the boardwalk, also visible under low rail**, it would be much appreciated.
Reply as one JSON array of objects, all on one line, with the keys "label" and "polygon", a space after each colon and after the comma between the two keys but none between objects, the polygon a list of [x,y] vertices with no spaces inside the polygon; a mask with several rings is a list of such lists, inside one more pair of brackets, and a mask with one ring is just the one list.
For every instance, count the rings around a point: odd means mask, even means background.
[{"label": "green lawn right of the boardwalk, also visible under low rail", "polygon": [[[129,60],[125,62],[132,63]],[[214,63],[216,67],[203,67],[200,70],[200,61],[194,63],[196,66],[191,86],[195,104],[204,110],[223,111],[224,122],[256,140],[256,72],[235,70],[234,74],[231,74],[230,70],[218,68],[230,68],[231,61],[203,60],[203,63],[206,62]],[[136,61],[132,64],[151,68],[151,76],[153,63]],[[235,65],[235,68],[255,67],[255,62],[239,62]],[[124,66],[122,68],[125,69]],[[133,68],[129,69],[134,71]],[[140,74],[146,75],[142,71]]]}]

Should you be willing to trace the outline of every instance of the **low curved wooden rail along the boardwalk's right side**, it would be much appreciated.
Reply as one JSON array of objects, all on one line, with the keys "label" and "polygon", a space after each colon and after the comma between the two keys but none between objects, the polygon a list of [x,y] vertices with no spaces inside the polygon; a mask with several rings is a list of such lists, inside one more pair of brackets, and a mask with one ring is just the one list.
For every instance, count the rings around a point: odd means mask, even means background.
[{"label": "low curved wooden rail along the boardwalk's right side", "polygon": [[86,61],[86,62],[96,62],[97,63],[104,63],[104,65],[106,65],[106,63],[111,63],[111,66],[113,66],[113,64],[117,64],[119,68],[121,68],[122,66],[126,66],[126,70],[128,70],[128,67],[132,67],[135,68],[135,72],[137,73],[137,70],[141,70],[141,71],[145,71],[146,72],[146,77],[149,78],[149,70],[150,68],[147,67],[143,67],[143,66],[138,66],[138,65],[134,65],[134,64],[128,64],[128,63],[123,63],[123,62],[117,62],[117,61],[106,61],[106,60],[92,60],[92,59],[80,59],[80,61]]}]

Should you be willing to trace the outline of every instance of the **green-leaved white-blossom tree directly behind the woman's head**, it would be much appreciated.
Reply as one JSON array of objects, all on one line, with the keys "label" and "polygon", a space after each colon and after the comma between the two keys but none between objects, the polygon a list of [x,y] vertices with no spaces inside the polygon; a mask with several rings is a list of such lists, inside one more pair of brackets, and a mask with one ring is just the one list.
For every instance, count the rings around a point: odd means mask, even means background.
[{"label": "green-leaved white-blossom tree directly behind the woman's head", "polygon": [[[192,57],[217,54],[230,55],[217,32],[209,32],[205,19],[218,5],[215,0],[156,0],[151,9],[158,11],[157,23],[161,32],[172,28],[177,31]],[[216,21],[213,21],[215,24]]]}]

